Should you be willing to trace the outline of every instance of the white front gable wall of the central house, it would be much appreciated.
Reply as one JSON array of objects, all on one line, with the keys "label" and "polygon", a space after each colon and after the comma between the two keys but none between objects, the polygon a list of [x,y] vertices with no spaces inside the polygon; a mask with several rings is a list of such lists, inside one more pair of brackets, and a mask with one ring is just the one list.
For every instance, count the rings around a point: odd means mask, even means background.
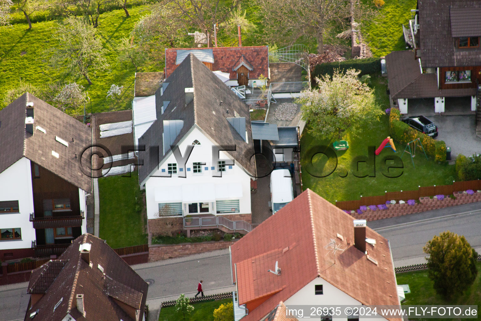
[{"label": "white front gable wall of the central house", "polygon": [[[200,141],[200,145],[194,145],[194,149],[190,154],[187,161],[187,167],[190,167],[190,171],[186,171],[186,178],[178,177],[179,165],[177,164],[177,174],[172,174],[172,177],[150,177],[145,183],[146,189],[146,202],[147,202],[147,217],[154,218],[155,213],[159,211],[159,202],[155,200],[155,188],[160,186],[182,186],[183,184],[226,184],[226,183],[239,183],[242,186],[242,197],[233,197],[232,199],[239,199],[239,213],[235,214],[249,214],[251,213],[251,177],[241,168],[239,164],[234,160],[234,166],[231,169],[226,166],[226,171],[222,172],[222,177],[212,177],[213,170],[212,165],[212,145],[216,145],[208,136],[204,135],[201,129],[194,126],[190,131],[184,136],[182,141],[180,141],[179,149],[184,156],[187,145],[192,145],[194,140]],[[162,150],[160,151],[162,153]],[[162,161],[159,169],[153,174],[154,176],[166,175],[167,174],[167,164],[177,163],[175,156],[169,152],[170,155]],[[226,152],[219,153],[219,159],[232,159]],[[194,174],[192,172],[192,163],[194,162],[205,162],[206,164],[202,166],[203,172],[201,174]],[[208,167],[208,170],[204,170]],[[165,169],[165,172],[162,172]],[[223,198],[227,200],[229,198]],[[168,202],[165,202],[168,203]],[[209,205],[210,213],[216,214],[215,204],[214,206]],[[188,215],[189,213],[185,211],[183,215]],[[220,214],[219,214],[220,215]]]}]

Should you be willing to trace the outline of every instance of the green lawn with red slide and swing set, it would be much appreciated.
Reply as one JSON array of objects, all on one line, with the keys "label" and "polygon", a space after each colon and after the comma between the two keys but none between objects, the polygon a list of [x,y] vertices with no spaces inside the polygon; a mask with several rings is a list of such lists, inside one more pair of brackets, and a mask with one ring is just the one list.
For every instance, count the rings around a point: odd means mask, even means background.
[{"label": "green lawn with red slide and swing set", "polygon": [[[389,98],[386,95],[387,79],[371,75],[372,87],[375,89],[377,102],[384,110],[389,108]],[[385,191],[395,192],[401,190],[415,190],[419,185],[432,186],[448,184],[456,177],[454,165],[444,165],[434,162],[432,159],[426,160],[424,154],[417,153],[414,158],[416,168],[413,168],[409,154],[402,157],[404,163],[403,174],[399,178],[387,178],[380,172],[380,160],[385,154],[394,153],[390,148],[385,148],[379,156],[376,156],[376,177],[357,178],[351,173],[351,162],[357,155],[367,155],[367,146],[373,145],[376,148],[380,143],[389,136],[388,116],[383,115],[379,122],[373,124],[363,124],[363,130],[358,136],[354,136],[347,131],[343,135],[343,139],[349,142],[347,151],[337,151],[338,157],[337,169],[328,177],[316,178],[309,175],[305,170],[306,159],[304,155],[306,151],[316,145],[328,145],[330,141],[315,141],[311,135],[304,130],[301,137],[301,161],[303,165],[302,181],[304,189],[310,188],[329,202],[350,201],[359,199],[360,196],[382,195]],[[401,156],[405,145],[394,141],[397,153]],[[321,157],[322,156],[322,157]],[[318,154],[313,159],[313,165],[316,168],[323,168],[326,165],[327,157]],[[365,163],[361,163],[365,165]],[[333,165],[327,165],[323,173],[329,173]],[[363,168],[363,167],[361,167]],[[341,178],[339,174],[348,171],[345,178]],[[375,204],[377,205],[377,204]]]}]

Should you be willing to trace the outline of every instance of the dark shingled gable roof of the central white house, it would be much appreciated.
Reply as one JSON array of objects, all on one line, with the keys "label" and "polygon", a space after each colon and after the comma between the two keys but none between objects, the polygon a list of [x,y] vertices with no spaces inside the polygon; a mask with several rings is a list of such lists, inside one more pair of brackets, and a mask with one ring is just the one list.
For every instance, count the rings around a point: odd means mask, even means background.
[{"label": "dark shingled gable roof of the central white house", "polygon": [[[159,162],[169,154],[170,147],[166,146],[165,155],[162,156],[163,121],[176,119],[183,120],[184,126],[173,142],[174,145],[178,144],[192,126],[197,125],[218,145],[236,145],[236,151],[226,153],[230,154],[236,164],[240,164],[251,176],[255,176],[254,157],[251,159],[254,147],[249,107],[193,54],[177,66],[165,83],[168,85],[162,96],[161,88],[155,92],[157,120],[139,139],[139,145],[146,146],[144,152],[139,152],[139,159],[144,160],[144,166],[139,166],[140,184],[145,183],[158,166],[148,161],[151,147],[159,146]],[[194,99],[187,105],[185,104],[186,88],[194,88]],[[162,114],[164,101],[170,103]],[[242,140],[241,135],[227,120],[227,117],[234,116],[234,111],[240,117],[246,117],[248,143]]]}]

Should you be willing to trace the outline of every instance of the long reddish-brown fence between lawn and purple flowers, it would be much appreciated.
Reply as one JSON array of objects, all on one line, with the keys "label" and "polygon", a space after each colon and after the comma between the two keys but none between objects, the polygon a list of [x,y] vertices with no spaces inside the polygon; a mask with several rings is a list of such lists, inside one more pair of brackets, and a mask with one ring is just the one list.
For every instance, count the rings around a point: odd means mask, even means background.
[{"label": "long reddish-brown fence between lawn and purple flowers", "polygon": [[467,190],[481,190],[481,180],[456,181],[452,185],[419,187],[416,191],[387,192],[384,193],[384,195],[367,196],[354,201],[336,202],[336,206],[343,210],[353,211],[358,209],[359,206],[362,205],[368,206],[385,204],[386,201],[392,200],[395,200],[396,202],[399,202],[401,200],[418,200],[419,197],[434,196],[440,194],[450,195],[454,192],[461,192]]}]

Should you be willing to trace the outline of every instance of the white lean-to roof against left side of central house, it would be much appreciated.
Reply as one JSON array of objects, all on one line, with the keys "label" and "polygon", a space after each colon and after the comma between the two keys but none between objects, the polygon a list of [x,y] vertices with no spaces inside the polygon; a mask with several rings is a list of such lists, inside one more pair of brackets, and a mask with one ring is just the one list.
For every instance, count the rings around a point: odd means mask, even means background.
[{"label": "white lean-to roof against left side of central house", "polygon": [[132,102],[134,121],[134,143],[139,145],[139,138],[157,120],[155,110],[155,95],[148,97],[135,97]]}]

